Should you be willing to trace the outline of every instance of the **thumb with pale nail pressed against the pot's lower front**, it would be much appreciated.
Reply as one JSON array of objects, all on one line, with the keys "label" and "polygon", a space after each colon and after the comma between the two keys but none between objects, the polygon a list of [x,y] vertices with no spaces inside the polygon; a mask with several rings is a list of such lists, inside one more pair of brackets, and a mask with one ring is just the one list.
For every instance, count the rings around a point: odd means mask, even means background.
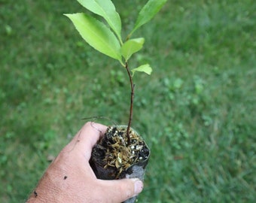
[{"label": "thumb with pale nail pressed against the pot's lower front", "polygon": [[104,202],[120,203],[126,199],[139,195],[143,189],[142,180],[138,178],[124,178],[121,180],[99,180],[102,184]]}]

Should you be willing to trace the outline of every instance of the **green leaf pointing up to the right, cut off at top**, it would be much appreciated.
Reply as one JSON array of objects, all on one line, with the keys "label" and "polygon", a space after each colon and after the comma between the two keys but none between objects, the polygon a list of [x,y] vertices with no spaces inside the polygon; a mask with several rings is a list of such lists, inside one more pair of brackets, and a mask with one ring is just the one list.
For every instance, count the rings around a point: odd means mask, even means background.
[{"label": "green leaf pointing up to the right, cut off at top", "polygon": [[160,11],[166,2],[167,0],[149,0],[148,3],[142,8],[142,11],[139,12],[139,16],[130,35],[132,35],[136,29],[139,29],[140,26],[148,23],[148,21],[151,20],[158,11]]}]

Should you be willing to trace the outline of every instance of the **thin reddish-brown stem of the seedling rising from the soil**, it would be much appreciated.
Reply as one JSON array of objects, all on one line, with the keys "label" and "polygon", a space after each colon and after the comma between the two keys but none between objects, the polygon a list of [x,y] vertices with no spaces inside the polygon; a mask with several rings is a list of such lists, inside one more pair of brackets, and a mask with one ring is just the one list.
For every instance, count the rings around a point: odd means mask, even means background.
[{"label": "thin reddish-brown stem of the seedling rising from the soil", "polygon": [[132,125],[132,120],[133,120],[133,98],[134,98],[134,87],[135,87],[135,85],[133,84],[133,77],[132,77],[132,74],[130,72],[130,69],[128,67],[127,62],[126,62],[125,68],[126,68],[126,71],[128,73],[128,76],[129,76],[129,79],[130,79],[130,85],[131,85],[130,116],[129,116],[129,122],[128,122],[128,126],[127,126],[127,131],[126,131],[127,145],[130,145],[131,144],[130,127]]}]

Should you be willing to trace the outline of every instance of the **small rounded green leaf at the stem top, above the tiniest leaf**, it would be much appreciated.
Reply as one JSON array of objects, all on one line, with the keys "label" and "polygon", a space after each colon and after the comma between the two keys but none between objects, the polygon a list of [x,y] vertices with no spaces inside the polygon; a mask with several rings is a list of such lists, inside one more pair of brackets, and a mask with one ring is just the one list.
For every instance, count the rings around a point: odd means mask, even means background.
[{"label": "small rounded green leaf at the stem top, above the tiniest leaf", "polygon": [[128,59],[130,59],[130,56],[132,56],[133,53],[136,53],[137,51],[142,49],[144,41],[144,38],[135,38],[130,39],[123,44],[123,46],[121,47],[121,54],[123,55],[126,62],[128,61]]}]

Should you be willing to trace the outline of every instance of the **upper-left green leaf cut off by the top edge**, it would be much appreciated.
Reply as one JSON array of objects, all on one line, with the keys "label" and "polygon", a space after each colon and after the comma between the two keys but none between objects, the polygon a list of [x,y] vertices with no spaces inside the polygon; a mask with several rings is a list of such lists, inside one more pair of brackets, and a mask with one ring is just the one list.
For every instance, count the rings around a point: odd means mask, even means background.
[{"label": "upper-left green leaf cut off by the top edge", "polygon": [[121,41],[121,20],[110,0],[78,0],[78,2],[94,14],[103,17]]}]

